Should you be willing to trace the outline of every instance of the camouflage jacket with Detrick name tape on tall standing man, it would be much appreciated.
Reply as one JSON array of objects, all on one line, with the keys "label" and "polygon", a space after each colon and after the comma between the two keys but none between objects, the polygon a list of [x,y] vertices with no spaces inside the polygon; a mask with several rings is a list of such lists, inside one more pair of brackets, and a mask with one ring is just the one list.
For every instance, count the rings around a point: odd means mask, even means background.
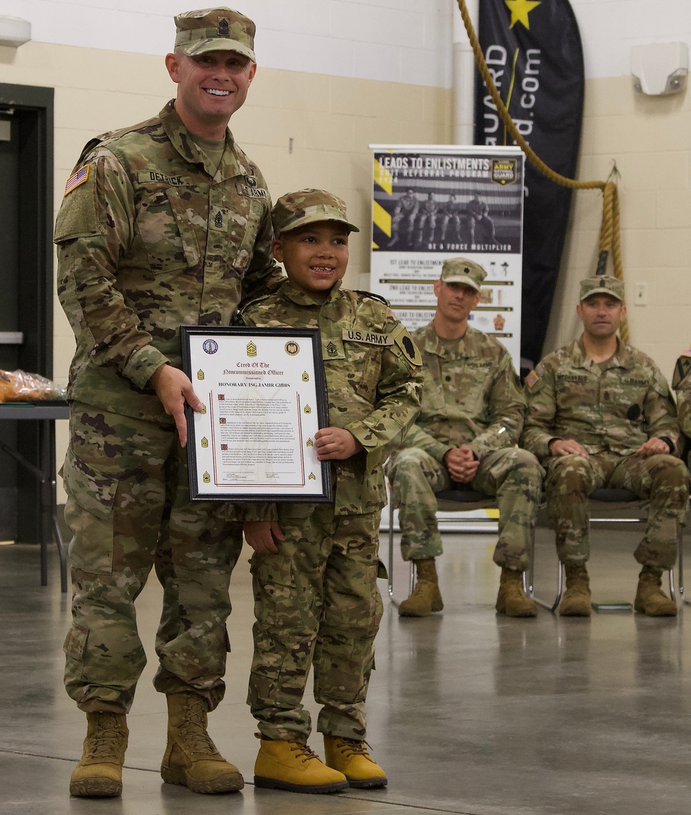
[{"label": "camouflage jacket with Detrick name tape on tall standing man", "polygon": [[[69,399],[170,423],[149,377],[181,367],[179,325],[228,325],[276,288],[271,200],[230,131],[218,170],[173,102],[86,145],[55,222],[58,294],[77,337]],[[213,174],[215,172],[215,174]]]}]

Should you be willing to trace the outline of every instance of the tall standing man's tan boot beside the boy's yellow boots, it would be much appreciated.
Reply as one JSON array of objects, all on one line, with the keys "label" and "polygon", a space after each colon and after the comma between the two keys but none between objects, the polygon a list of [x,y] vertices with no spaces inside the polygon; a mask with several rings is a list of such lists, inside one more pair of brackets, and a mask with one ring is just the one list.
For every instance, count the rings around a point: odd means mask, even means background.
[{"label": "tall standing man's tan boot beside the boy's yellow boots", "polygon": [[199,694],[169,694],[168,744],[161,764],[166,784],[205,794],[235,792],[245,786],[240,771],[216,750],[206,732],[206,699]]}]

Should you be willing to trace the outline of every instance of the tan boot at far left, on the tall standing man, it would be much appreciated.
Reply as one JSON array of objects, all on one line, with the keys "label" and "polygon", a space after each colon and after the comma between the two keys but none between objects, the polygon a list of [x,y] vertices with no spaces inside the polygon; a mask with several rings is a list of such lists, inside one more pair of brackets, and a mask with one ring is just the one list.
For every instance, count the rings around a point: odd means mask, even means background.
[{"label": "tan boot at far left, on the tall standing man", "polygon": [[84,752],[69,779],[70,795],[79,798],[120,795],[128,735],[124,713],[86,714]]}]

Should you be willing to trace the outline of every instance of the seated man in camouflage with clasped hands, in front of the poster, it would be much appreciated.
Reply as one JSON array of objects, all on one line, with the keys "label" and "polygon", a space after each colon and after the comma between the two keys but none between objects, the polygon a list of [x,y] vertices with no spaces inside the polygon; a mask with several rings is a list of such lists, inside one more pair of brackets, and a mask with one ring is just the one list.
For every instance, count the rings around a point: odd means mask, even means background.
[{"label": "seated man in camouflage with clasped hands, in front of the poster", "polygon": [[543,473],[534,456],[516,447],[525,399],[511,355],[494,337],[468,326],[485,276],[476,262],[445,261],[434,284],[434,319],[412,335],[423,355],[422,411],[387,465],[401,553],[415,563],[418,577],[399,607],[402,616],[427,617],[444,607],[434,562],[441,554],[435,493],[456,484],[497,496],[498,612],[537,615],[523,592],[522,573]]}]

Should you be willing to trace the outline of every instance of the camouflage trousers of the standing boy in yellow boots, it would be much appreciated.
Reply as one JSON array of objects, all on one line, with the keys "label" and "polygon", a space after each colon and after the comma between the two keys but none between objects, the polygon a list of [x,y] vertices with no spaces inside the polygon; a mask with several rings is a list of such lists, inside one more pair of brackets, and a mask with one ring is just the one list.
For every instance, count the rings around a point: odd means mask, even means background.
[{"label": "camouflage trousers of the standing boy in yellow boots", "polygon": [[[379,513],[334,517],[320,504],[300,517],[279,504],[278,553],[255,553],[255,655],[247,703],[264,736],[302,741],[310,667],[320,733],[365,738],[365,696],[382,617]],[[383,567],[382,567],[383,568]],[[379,575],[379,576],[385,576]]]}]

